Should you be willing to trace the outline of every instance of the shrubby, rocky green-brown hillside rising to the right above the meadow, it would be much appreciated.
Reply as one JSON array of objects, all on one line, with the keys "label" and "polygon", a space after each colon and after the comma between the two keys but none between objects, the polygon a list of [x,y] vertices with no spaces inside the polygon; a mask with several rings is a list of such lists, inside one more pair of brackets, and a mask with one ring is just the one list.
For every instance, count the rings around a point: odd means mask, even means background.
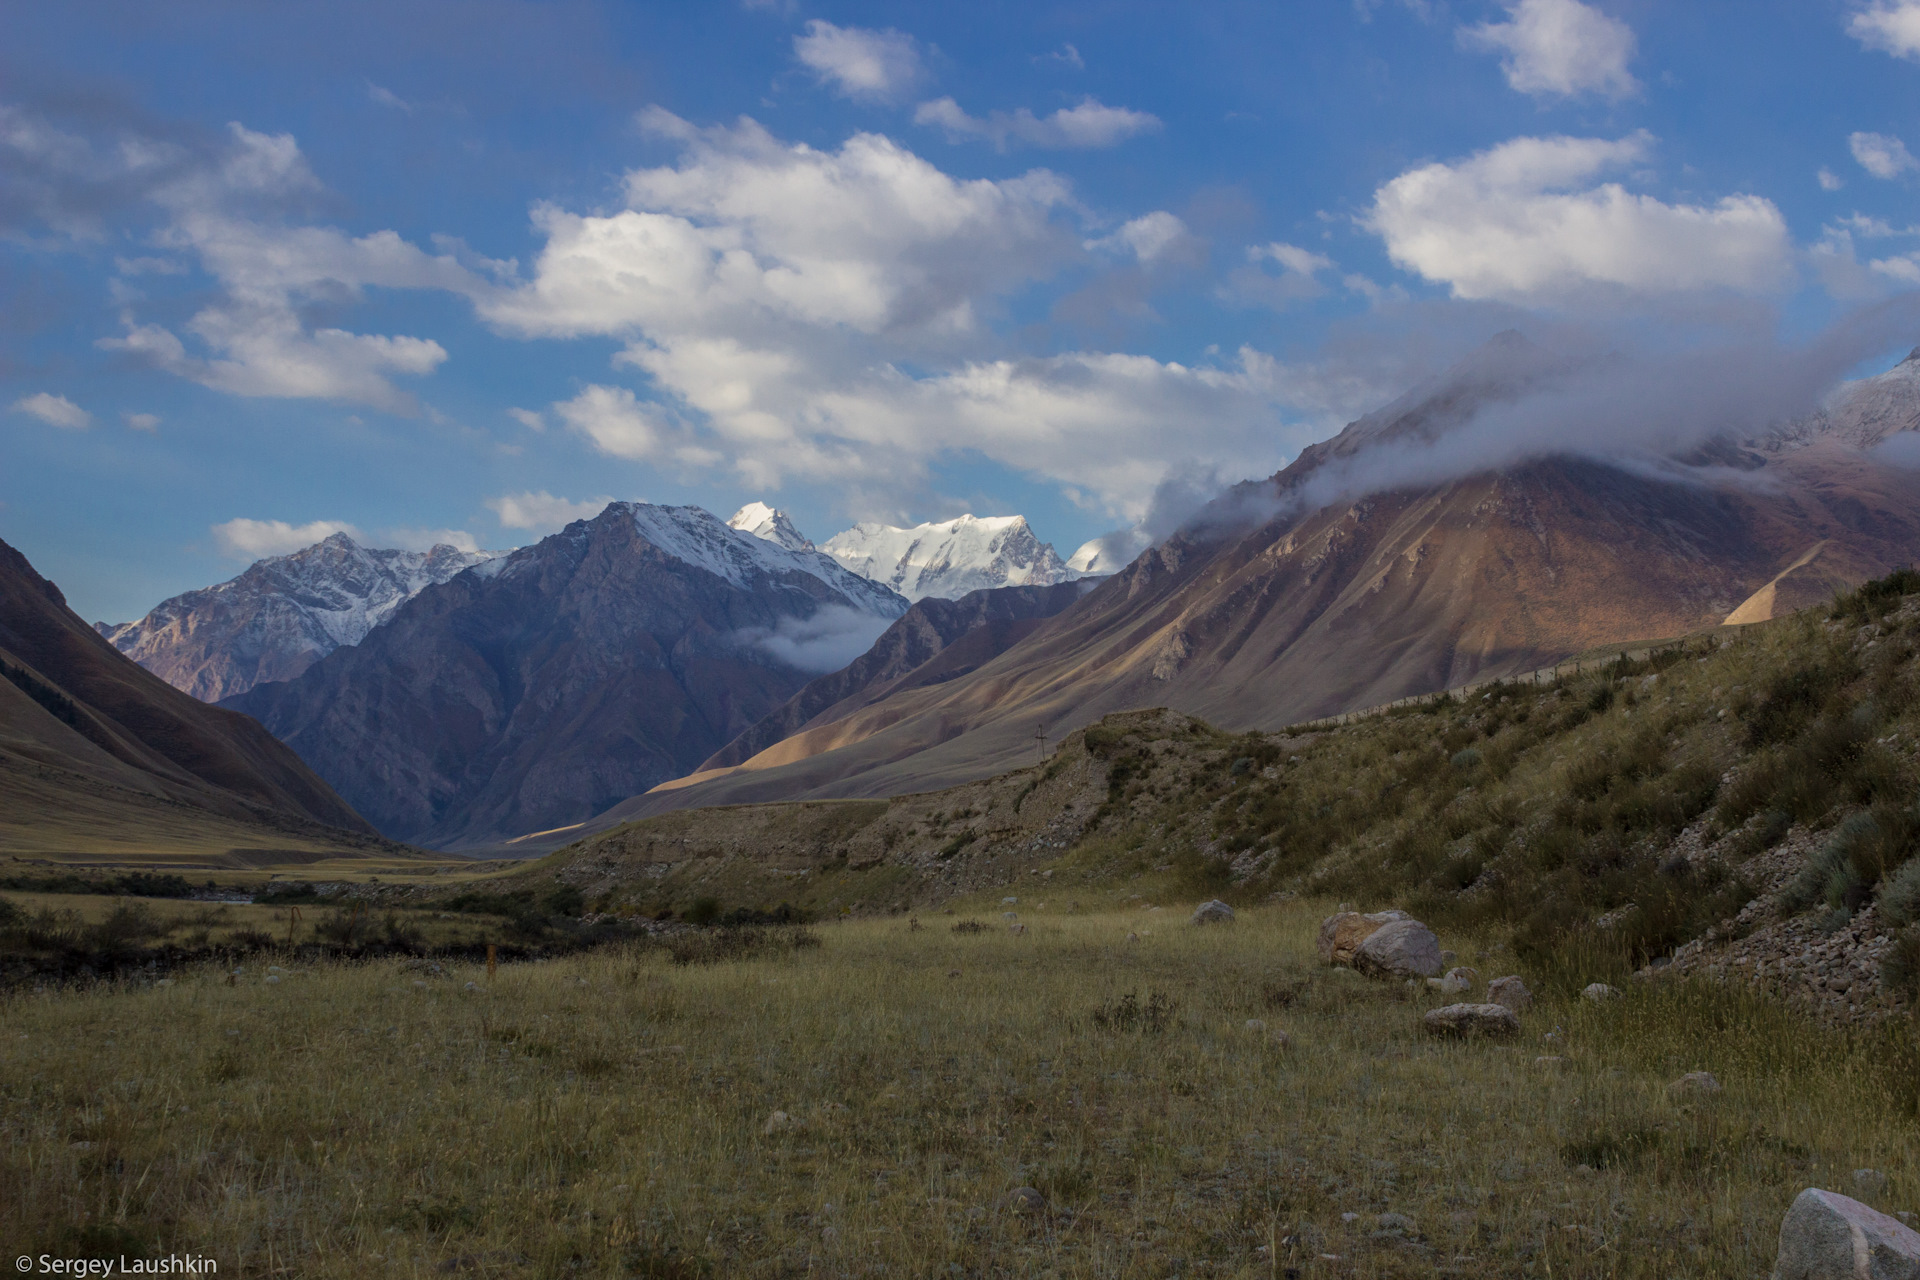
[{"label": "shrubby, rocky green-brown hillside rising to the right above the meadow", "polygon": [[[1887,1011],[1920,983],[1916,591],[1901,572],[1784,620],[1340,725],[1110,716],[1044,766],[893,800],[666,814],[501,890],[559,881],[591,913],[680,917],[998,890],[1050,912],[1325,896],[1582,975],[1738,969],[1843,1015]],[[1799,963],[1809,948],[1832,963]]]}]

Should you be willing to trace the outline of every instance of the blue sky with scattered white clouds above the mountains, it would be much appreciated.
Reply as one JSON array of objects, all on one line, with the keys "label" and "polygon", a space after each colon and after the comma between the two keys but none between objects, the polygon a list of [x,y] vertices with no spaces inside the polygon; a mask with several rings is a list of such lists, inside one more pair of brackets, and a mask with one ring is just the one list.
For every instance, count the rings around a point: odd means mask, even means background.
[{"label": "blue sky with scattered white clouds above the mountains", "polygon": [[86,618],[605,497],[1066,555],[1501,328],[1789,349],[1920,284],[1920,0],[8,29],[0,537]]}]

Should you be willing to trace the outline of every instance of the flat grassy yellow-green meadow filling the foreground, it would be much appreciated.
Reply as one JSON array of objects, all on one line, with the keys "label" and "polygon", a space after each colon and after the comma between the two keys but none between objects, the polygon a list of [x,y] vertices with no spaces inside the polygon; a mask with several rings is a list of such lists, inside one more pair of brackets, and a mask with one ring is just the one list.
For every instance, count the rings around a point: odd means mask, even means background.
[{"label": "flat grassy yellow-green meadow filling the foreground", "polygon": [[[1425,986],[1317,963],[1329,910],[1016,935],[995,900],[492,981],[255,956],[15,988],[0,1222],[15,1255],[223,1276],[1668,1280],[1764,1276],[1805,1186],[1920,1209],[1910,1027],[1548,981],[1519,1040],[1434,1042]],[[1482,988],[1532,977],[1442,944]]]}]

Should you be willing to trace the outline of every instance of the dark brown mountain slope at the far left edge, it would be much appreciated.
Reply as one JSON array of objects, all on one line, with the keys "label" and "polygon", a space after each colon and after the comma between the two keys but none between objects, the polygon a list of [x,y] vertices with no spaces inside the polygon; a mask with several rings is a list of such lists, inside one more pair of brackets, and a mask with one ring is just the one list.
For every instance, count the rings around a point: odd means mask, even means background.
[{"label": "dark brown mountain slope at the far left edge", "polygon": [[10,846],[63,848],[77,833],[108,839],[102,823],[127,825],[113,839],[138,842],[138,827],[159,814],[217,819],[250,844],[372,835],[259,723],[121,656],[6,543],[0,666],[0,839]]}]

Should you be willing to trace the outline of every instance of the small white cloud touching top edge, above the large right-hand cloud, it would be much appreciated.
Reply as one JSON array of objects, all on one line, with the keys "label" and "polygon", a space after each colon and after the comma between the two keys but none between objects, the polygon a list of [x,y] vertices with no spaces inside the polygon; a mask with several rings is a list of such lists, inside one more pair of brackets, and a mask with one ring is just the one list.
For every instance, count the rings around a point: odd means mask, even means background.
[{"label": "small white cloud touching top edge, above the large right-hand cloud", "polygon": [[1511,0],[1507,21],[1465,27],[1467,48],[1500,54],[1507,84],[1523,94],[1605,94],[1640,88],[1626,63],[1634,31],[1580,0]]}]

